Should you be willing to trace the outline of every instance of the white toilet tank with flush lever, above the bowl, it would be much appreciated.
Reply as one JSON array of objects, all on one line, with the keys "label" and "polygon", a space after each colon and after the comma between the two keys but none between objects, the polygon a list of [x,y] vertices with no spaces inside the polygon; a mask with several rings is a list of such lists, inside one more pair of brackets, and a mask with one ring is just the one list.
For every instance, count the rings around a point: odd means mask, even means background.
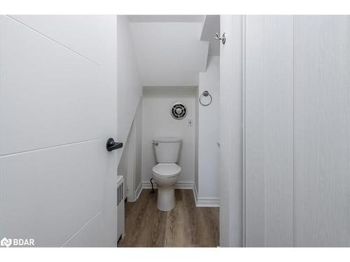
[{"label": "white toilet tank with flush lever, above the bowl", "polygon": [[181,138],[155,138],[152,142],[157,163],[179,162]]}]

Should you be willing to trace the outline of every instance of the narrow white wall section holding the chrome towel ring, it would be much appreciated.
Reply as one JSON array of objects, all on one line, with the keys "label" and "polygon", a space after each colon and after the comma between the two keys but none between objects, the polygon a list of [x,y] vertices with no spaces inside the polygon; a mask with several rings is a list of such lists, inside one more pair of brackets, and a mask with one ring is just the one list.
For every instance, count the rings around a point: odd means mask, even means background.
[{"label": "narrow white wall section holding the chrome towel ring", "polygon": [[[198,199],[219,198],[219,89],[220,89],[220,57],[210,56],[207,71],[200,73],[198,95],[205,90],[212,96],[210,105],[198,106],[198,181],[196,187]],[[209,102],[209,96],[202,96],[203,103]]]}]

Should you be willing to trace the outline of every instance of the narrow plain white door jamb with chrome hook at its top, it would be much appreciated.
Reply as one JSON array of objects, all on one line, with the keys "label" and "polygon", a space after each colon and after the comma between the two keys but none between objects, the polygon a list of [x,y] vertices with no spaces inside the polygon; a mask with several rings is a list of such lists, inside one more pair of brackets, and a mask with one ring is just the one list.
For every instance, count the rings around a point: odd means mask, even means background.
[{"label": "narrow plain white door jamb with chrome hook at its top", "polygon": [[241,15],[221,15],[220,246],[242,246],[242,28]]}]

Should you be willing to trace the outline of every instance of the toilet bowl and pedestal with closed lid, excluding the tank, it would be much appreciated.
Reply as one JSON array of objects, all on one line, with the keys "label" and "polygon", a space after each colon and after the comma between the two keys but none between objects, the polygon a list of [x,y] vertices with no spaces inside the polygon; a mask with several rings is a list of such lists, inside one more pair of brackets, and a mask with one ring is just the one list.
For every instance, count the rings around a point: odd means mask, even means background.
[{"label": "toilet bowl and pedestal with closed lid, excluding the tank", "polygon": [[175,206],[174,186],[179,178],[181,167],[176,163],[158,163],[152,168],[153,178],[158,184],[157,208],[172,210]]}]

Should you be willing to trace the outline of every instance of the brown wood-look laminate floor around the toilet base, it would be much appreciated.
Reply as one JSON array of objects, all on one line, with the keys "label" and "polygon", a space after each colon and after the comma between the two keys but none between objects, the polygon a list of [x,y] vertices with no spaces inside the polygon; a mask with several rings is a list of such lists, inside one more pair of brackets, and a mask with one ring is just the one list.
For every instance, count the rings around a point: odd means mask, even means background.
[{"label": "brown wood-look laminate floor around the toilet base", "polygon": [[176,189],[175,208],[157,208],[157,193],[144,189],[125,203],[125,236],[118,247],[217,247],[219,208],[197,208],[192,190]]}]

